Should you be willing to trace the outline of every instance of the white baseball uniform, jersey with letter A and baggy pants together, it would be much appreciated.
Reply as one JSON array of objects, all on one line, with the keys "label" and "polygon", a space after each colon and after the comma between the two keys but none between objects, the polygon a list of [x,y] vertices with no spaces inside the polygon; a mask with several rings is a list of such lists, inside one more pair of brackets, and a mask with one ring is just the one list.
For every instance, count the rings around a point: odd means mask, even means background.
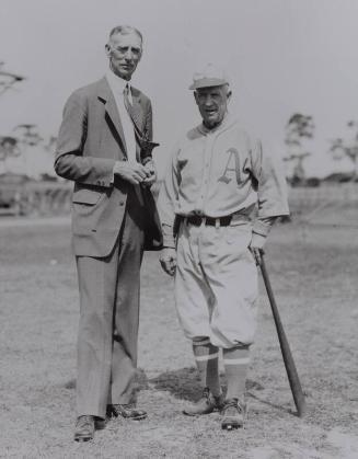
[{"label": "white baseball uniform, jersey with letter A and baggy pants together", "polygon": [[177,250],[175,302],[186,336],[223,348],[252,344],[257,269],[249,245],[253,234],[267,236],[273,217],[289,214],[277,164],[232,116],[210,130],[201,124],[177,142],[158,206],[164,246]]}]

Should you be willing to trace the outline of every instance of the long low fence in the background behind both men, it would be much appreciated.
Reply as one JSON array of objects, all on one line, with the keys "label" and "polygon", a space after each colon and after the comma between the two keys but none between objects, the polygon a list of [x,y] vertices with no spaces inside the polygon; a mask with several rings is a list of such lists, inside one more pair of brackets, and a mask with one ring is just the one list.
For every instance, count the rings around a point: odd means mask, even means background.
[{"label": "long low fence in the background behind both men", "polygon": [[[152,187],[158,196],[160,184]],[[72,184],[28,182],[0,186],[0,216],[50,216],[70,213]],[[358,184],[289,188],[292,221],[358,227]],[[1,205],[5,203],[5,205]]]}]

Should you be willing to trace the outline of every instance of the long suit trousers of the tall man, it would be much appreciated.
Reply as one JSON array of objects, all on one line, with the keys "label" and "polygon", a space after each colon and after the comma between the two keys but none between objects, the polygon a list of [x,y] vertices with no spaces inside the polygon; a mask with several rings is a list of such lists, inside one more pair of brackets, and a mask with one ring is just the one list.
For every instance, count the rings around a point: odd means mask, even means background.
[{"label": "long suit trousers of the tall man", "polygon": [[105,417],[106,405],[135,400],[142,208],[134,187],[106,257],[78,256],[80,323],[77,413]]}]

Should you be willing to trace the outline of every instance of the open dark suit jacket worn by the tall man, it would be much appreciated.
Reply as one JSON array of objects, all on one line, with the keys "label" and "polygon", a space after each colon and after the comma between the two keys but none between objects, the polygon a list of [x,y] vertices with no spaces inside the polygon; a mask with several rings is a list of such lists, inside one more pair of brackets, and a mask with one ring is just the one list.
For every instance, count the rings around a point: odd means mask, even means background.
[{"label": "open dark suit jacket worn by the tall man", "polygon": [[[152,138],[150,100],[132,88],[132,104],[140,114],[141,130]],[[137,158],[146,162],[151,152],[137,145]],[[57,139],[56,173],[74,181],[72,246],[76,255],[106,256],[111,253],[124,218],[129,187],[115,179],[113,167],[126,160],[126,144],[116,102],[106,78],[74,91],[63,110]],[[159,249],[161,229],[149,188],[140,188],[146,216],[145,249]]]}]

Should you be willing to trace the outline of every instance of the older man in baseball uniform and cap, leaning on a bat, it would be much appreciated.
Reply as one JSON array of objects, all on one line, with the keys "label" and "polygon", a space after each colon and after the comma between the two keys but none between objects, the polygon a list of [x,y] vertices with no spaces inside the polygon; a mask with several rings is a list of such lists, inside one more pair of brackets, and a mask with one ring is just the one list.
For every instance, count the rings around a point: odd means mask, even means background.
[{"label": "older man in baseball uniform and cap, leaning on a bat", "polygon": [[[194,76],[203,123],[177,142],[159,195],[164,234],[160,262],[175,277],[177,315],[193,342],[203,398],[184,413],[220,410],[222,428],[241,427],[253,344],[259,250],[278,216],[288,215],[286,182],[228,112],[224,72],[212,65]],[[251,215],[257,208],[252,221]],[[222,348],[228,390],[219,383]]]}]

